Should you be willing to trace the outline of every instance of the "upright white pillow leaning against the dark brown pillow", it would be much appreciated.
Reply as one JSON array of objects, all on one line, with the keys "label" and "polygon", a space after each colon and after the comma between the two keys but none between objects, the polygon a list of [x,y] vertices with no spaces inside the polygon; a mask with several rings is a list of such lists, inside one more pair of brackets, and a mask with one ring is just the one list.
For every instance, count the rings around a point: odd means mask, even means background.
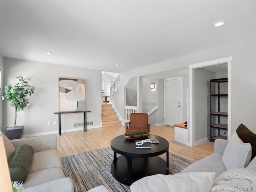
[{"label": "upright white pillow leaning against the dark brown pillow", "polygon": [[234,168],[245,168],[252,158],[252,146],[244,143],[236,132],[232,134],[222,156],[222,162],[227,170]]}]

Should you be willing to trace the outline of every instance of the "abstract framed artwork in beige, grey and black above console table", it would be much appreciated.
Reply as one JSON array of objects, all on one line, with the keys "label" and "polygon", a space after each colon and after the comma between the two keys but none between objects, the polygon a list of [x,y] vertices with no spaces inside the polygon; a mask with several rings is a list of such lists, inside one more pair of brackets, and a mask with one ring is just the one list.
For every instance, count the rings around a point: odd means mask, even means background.
[{"label": "abstract framed artwork in beige, grey and black above console table", "polygon": [[86,110],[85,80],[59,78],[59,111]]}]

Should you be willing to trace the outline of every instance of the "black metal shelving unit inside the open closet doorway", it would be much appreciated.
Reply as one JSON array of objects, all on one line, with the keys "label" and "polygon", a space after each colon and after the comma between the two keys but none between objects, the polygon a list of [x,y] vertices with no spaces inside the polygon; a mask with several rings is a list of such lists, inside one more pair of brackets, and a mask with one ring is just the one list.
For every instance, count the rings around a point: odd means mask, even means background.
[{"label": "black metal shelving unit inside the open closet doorway", "polygon": [[[221,124],[220,118],[222,116],[227,117],[227,112],[220,112],[220,97],[228,97],[228,94],[220,94],[220,84],[223,82],[228,82],[228,78],[221,78],[221,79],[210,79],[210,141],[214,142],[214,140],[221,138],[221,139],[228,139],[227,136],[220,135],[220,130],[228,130],[227,124]],[[212,83],[218,84],[218,94],[212,94]],[[214,91],[215,92],[215,91]],[[212,99],[218,98],[218,112],[214,111],[212,112]],[[212,116],[218,116],[218,124],[212,124]],[[212,129],[218,129],[218,135],[212,136]]]}]

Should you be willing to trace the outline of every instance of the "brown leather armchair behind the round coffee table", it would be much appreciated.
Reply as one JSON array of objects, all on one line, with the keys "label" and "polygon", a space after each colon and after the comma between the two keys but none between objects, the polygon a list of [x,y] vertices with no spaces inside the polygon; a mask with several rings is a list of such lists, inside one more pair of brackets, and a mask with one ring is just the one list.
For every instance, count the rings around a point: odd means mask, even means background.
[{"label": "brown leather armchair behind the round coffee table", "polygon": [[150,132],[147,113],[131,113],[130,122],[125,124],[125,133]]}]

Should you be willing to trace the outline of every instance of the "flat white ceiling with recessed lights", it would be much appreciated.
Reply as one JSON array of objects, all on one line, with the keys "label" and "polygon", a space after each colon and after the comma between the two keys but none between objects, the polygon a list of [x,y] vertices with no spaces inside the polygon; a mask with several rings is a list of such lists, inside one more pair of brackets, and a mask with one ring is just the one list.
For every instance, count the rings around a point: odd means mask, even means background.
[{"label": "flat white ceiling with recessed lights", "polygon": [[[122,73],[255,36],[255,9],[244,0],[1,0],[0,51]],[[214,28],[218,20],[227,23]]]}]

